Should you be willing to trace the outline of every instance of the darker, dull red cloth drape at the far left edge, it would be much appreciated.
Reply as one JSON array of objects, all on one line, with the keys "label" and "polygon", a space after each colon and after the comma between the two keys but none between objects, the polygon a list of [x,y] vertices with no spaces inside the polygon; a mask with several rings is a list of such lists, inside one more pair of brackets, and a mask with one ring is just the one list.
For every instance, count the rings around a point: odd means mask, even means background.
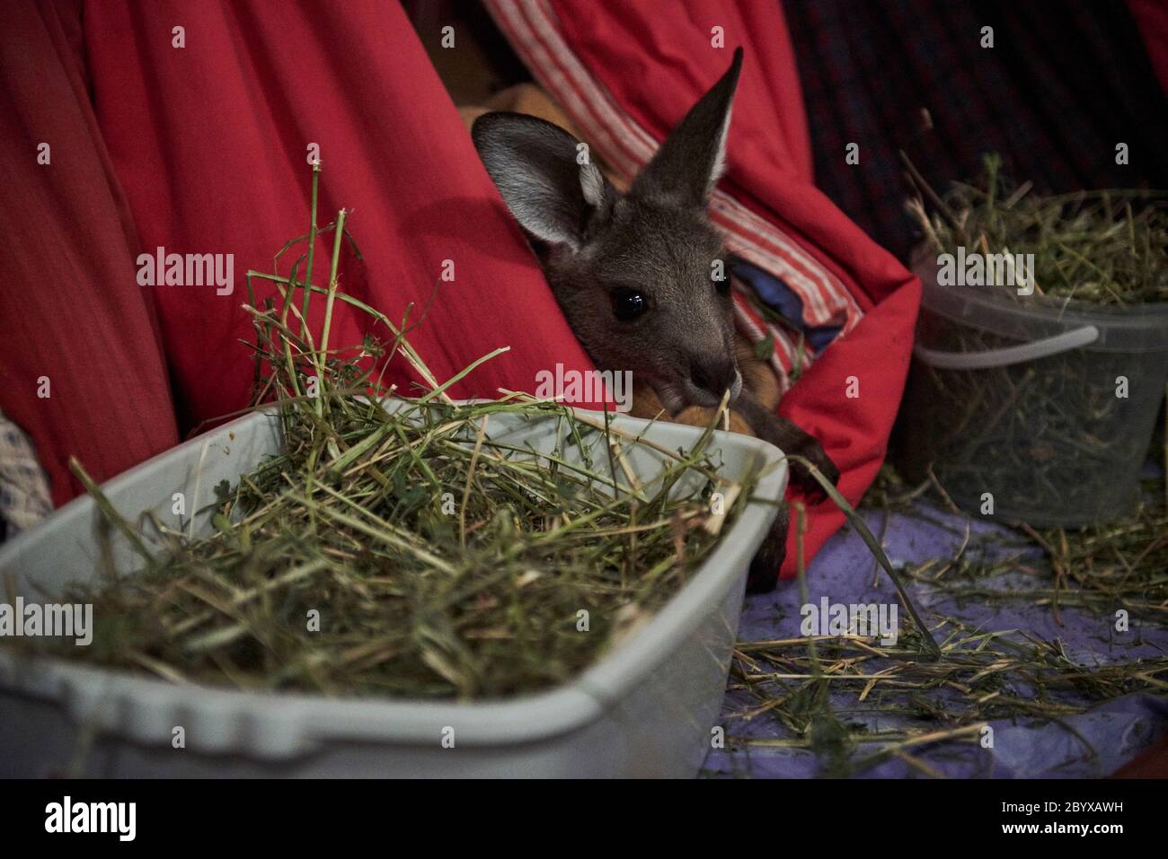
[{"label": "darker, dull red cloth drape at the far left edge", "polygon": [[134,285],[134,219],[86,90],[79,11],[7,4],[0,26],[0,408],[33,439],[57,504],[81,489],[70,454],[104,479],[179,439]]}]

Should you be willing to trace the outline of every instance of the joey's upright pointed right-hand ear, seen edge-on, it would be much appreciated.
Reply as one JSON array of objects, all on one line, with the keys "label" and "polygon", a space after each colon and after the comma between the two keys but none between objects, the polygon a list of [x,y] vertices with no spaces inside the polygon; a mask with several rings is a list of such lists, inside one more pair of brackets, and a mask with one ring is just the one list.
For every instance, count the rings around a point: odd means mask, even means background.
[{"label": "joey's upright pointed right-hand ear, seen edge-on", "polygon": [[742,48],[734,53],[722,76],[666,138],[653,160],[641,170],[630,196],[665,197],[702,209],[725,169],[730,109],[742,70]]}]

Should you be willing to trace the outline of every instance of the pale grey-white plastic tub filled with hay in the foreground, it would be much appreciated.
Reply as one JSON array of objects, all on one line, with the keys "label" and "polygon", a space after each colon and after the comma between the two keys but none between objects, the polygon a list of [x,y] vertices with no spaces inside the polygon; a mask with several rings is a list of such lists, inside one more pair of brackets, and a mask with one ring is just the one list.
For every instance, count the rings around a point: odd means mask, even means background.
[{"label": "pale grey-white plastic tub filled with hay in the foreground", "polygon": [[[555,442],[552,419],[492,421],[536,449]],[[618,418],[641,430],[648,421]],[[691,447],[700,431],[658,424],[646,438]],[[172,496],[187,509],[214,487],[278,449],[279,422],[252,414],[157,456],[110,481],[124,514],[153,510],[173,522]],[[717,433],[724,473],[741,477],[780,460],[766,442]],[[642,477],[659,458],[638,446]],[[785,462],[758,484],[694,579],[644,628],[575,682],[499,703],[445,704],[331,699],[179,686],[55,659],[16,658],[0,642],[0,775],[88,776],[693,776],[710,748],[748,565],[786,487]],[[92,501],[78,498],[0,549],[0,573],[16,595],[46,601],[97,568]],[[199,524],[199,523],[196,523]],[[113,543],[119,568],[130,550]],[[2,593],[2,591],[0,591]],[[2,596],[0,599],[7,599]],[[181,727],[185,748],[174,748]],[[453,736],[453,747],[450,738]],[[444,738],[446,743],[444,745]]]}]

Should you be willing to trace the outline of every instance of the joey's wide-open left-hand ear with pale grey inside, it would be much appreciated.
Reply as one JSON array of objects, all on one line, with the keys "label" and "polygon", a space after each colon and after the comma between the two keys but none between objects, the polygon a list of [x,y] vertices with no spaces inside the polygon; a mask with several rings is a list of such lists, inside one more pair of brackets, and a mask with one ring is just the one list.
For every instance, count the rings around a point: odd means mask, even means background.
[{"label": "joey's wide-open left-hand ear with pale grey inside", "polygon": [[500,111],[474,120],[471,137],[507,208],[536,238],[578,250],[611,212],[614,189],[559,126]]}]

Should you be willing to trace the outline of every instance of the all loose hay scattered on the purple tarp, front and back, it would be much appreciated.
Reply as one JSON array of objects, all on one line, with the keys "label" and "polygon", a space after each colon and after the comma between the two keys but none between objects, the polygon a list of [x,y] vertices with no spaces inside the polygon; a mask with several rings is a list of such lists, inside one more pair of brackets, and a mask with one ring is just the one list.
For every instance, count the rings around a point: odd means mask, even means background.
[{"label": "all loose hay scattered on the purple tarp, front and back", "polygon": [[[1145,633],[1168,629],[1164,481],[1149,480],[1143,488],[1138,514],[1121,523],[1078,530],[1018,526],[982,538],[976,552],[968,531],[939,515],[938,508],[951,502],[936,483],[906,486],[891,466],[882,469],[863,509],[881,511],[885,521],[894,514],[922,519],[960,542],[953,557],[899,570],[918,594],[941,592],[958,605],[1036,606],[1058,622],[1064,622],[1059,609],[1073,607],[1098,619],[1101,637],[1124,608],[1132,629],[1140,630],[1132,638],[1139,644],[1148,641]],[[927,501],[936,507],[922,503]],[[932,629],[941,648],[936,661],[920,658],[915,628],[892,647],[856,635],[739,642],[730,682],[739,704],[725,714],[728,746],[745,754],[807,749],[827,776],[860,775],[899,760],[936,777],[940,773],[924,753],[976,767],[988,760],[980,743],[990,721],[1056,724],[1075,734],[1066,717],[1107,700],[1131,692],[1168,698],[1168,655],[1085,665],[1057,637],[993,631],[957,617],[934,621]],[[748,731],[756,720],[765,720],[771,735]],[[878,722],[897,727],[871,729]],[[1090,760],[1094,749],[1078,739]]]}]

